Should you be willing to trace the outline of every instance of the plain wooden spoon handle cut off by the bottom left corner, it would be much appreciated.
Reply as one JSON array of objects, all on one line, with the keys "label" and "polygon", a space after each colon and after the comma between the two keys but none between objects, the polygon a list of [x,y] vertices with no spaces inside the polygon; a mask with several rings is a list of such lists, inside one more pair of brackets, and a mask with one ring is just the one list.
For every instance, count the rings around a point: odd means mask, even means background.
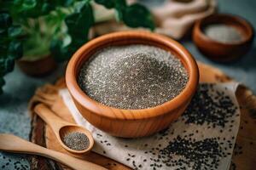
[{"label": "plain wooden spoon handle cut off by the bottom left corner", "polygon": [[107,168],[101,167],[89,161],[79,160],[73,156],[68,156],[66,154],[62,154],[61,152],[46,149],[38,144],[33,144],[25,139],[20,139],[13,134],[0,134],[0,150],[49,157],[50,159],[59,161],[62,164],[77,170],[107,170]]}]

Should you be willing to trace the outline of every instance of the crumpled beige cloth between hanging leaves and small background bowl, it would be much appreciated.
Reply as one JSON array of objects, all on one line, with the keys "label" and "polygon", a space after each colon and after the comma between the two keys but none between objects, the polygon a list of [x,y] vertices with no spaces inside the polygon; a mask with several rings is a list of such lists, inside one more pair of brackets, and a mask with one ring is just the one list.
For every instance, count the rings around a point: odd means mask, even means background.
[{"label": "crumpled beige cloth between hanging leaves and small background bowl", "polygon": [[156,31],[180,39],[191,30],[196,20],[213,14],[216,8],[216,0],[193,0],[190,3],[168,0],[160,7],[151,10],[160,25]]}]

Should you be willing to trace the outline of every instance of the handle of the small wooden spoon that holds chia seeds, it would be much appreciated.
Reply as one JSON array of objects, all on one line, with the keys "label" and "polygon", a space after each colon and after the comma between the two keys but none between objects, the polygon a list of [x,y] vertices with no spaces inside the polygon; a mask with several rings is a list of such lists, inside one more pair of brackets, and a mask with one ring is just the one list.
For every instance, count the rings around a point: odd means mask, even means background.
[{"label": "handle of the small wooden spoon that holds chia seeds", "polygon": [[65,122],[61,117],[56,116],[55,113],[49,110],[44,104],[36,105],[34,111],[46,122],[55,132],[66,125],[72,125],[70,122]]}]

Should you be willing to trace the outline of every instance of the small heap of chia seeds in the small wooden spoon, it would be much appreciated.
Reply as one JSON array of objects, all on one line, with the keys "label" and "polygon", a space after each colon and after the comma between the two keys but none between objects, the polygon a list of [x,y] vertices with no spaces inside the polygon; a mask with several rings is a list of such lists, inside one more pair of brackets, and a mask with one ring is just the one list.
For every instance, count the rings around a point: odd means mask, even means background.
[{"label": "small heap of chia seeds in the small wooden spoon", "polygon": [[63,143],[73,150],[86,150],[90,145],[88,137],[78,132],[67,133],[63,138]]}]

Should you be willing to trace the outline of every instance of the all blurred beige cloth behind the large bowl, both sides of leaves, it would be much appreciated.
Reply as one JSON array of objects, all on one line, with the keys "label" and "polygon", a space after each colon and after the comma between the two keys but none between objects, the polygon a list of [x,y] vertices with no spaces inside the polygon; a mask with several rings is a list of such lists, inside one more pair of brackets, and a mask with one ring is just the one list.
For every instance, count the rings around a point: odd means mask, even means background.
[{"label": "all blurred beige cloth behind the large bowl, both sides of leaves", "polygon": [[[136,3],[137,0],[128,0],[128,3]],[[189,3],[181,3],[177,0],[165,0],[158,5],[148,5],[147,1],[144,2],[152,14],[154,15],[155,22],[157,23],[156,32],[172,37],[174,39],[181,39],[191,30],[191,27],[196,20],[205,18],[214,14],[217,10],[217,0],[193,0]],[[120,25],[117,22],[102,22],[113,21],[115,12],[113,9],[107,9],[93,3],[93,8],[96,10],[96,22],[100,23],[94,27],[93,31],[96,35],[102,35],[113,31],[125,31],[131,28]],[[142,28],[140,28],[142,29]]]}]

